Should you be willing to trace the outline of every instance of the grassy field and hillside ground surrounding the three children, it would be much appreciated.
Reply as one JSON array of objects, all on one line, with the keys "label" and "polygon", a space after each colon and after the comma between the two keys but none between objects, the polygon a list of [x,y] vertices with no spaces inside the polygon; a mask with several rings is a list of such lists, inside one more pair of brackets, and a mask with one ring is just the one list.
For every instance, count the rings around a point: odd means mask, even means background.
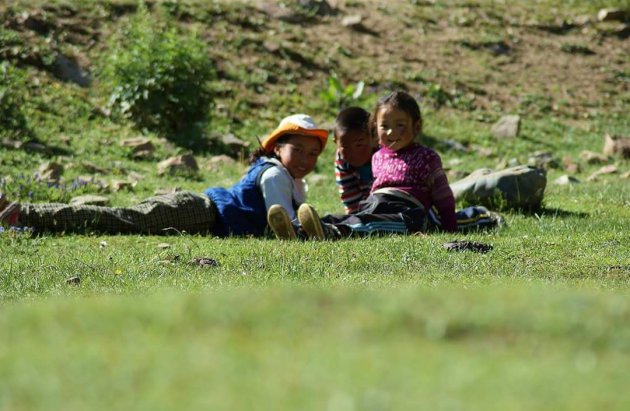
[{"label": "grassy field and hillside ground surrounding the three children", "polygon": [[[630,162],[582,157],[601,153],[607,133],[630,137],[628,21],[596,18],[628,2],[330,3],[338,14],[292,2],[152,6],[195,30],[216,66],[199,141],[232,133],[251,147],[290,112],[328,126],[342,97],[369,109],[402,87],[422,96],[424,142],[452,173],[549,152],[543,209],[503,211],[507,227],[492,233],[339,242],[3,229],[0,410],[630,408]],[[104,110],[102,68],[135,10],[0,1],[0,58],[16,76],[0,91],[19,90],[25,121],[8,132],[0,118],[0,192],[128,205],[246,170],[212,165],[225,147],[187,146]],[[340,24],[355,14],[362,31]],[[497,45],[509,51],[488,52]],[[60,80],[46,57],[58,54],[88,68],[92,85]],[[333,72],[365,91],[335,95]],[[492,124],[513,113],[519,137],[496,140]],[[121,146],[138,136],[155,144],[150,157]],[[182,153],[198,173],[158,175]],[[331,142],[308,177],[322,213],[341,212],[333,153]],[[53,186],[35,178],[49,161],[63,169]],[[617,172],[588,178],[605,165]],[[565,174],[581,182],[553,183]],[[454,239],[494,248],[446,251]]]}]

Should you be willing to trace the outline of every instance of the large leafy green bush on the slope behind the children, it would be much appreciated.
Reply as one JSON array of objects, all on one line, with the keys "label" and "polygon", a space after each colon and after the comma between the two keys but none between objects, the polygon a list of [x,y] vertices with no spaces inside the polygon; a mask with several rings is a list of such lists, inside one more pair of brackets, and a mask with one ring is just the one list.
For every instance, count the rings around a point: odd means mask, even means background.
[{"label": "large leafy green bush on the slope behind the children", "polygon": [[114,39],[104,76],[112,112],[167,136],[186,134],[209,120],[214,76],[207,46],[141,7]]}]

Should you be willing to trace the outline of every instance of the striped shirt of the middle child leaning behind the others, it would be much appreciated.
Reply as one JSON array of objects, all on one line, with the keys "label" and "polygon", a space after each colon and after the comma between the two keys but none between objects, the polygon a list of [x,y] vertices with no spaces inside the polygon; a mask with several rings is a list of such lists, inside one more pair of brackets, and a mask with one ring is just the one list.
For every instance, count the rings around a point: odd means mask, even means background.
[{"label": "striped shirt of the middle child leaning behind the others", "polygon": [[339,197],[347,214],[359,210],[361,200],[367,198],[372,187],[372,164],[354,167],[341,157],[339,150],[335,153],[335,182]]}]

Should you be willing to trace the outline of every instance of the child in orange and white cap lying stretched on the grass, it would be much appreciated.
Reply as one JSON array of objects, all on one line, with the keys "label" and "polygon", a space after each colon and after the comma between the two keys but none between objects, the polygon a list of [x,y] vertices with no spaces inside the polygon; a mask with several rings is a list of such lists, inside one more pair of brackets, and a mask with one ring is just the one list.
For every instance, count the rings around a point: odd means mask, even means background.
[{"label": "child in orange and white cap lying stretched on the grass", "polygon": [[327,140],[328,131],[317,128],[309,116],[292,115],[261,142],[247,174],[230,188],[208,188],[205,195],[188,191],[160,195],[129,208],[20,204],[0,195],[0,223],[35,231],[262,236],[272,206],[295,219],[305,200],[304,177],[315,168]]}]

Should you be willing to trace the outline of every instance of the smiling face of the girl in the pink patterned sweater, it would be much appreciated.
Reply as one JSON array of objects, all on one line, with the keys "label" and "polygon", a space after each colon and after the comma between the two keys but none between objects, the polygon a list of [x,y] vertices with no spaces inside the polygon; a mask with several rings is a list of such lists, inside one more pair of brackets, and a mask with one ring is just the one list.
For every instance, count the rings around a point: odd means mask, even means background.
[{"label": "smiling face of the girl in the pink patterned sweater", "polygon": [[385,106],[376,115],[376,132],[381,145],[398,151],[413,143],[420,132],[420,122],[414,124],[405,111]]}]

